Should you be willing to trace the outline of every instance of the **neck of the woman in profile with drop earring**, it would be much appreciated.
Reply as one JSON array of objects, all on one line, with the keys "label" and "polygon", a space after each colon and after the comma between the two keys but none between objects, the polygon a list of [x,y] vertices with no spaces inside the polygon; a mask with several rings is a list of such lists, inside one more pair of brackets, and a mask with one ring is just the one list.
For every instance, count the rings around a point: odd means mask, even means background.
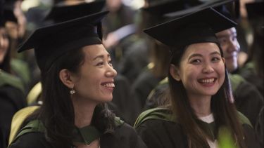
[{"label": "neck of the woman in profile with drop earring", "polygon": [[77,126],[77,128],[82,128],[91,124],[96,105],[96,103],[88,102],[85,99],[73,98],[75,126]]}]

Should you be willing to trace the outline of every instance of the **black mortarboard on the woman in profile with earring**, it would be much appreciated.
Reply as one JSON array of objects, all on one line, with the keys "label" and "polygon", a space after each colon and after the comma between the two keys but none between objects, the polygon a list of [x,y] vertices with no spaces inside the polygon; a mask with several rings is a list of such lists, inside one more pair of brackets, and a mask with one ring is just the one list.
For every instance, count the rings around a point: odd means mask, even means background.
[{"label": "black mortarboard on the woman in profile with earring", "polygon": [[67,51],[100,44],[101,19],[108,11],[61,22],[34,31],[18,48],[18,52],[34,48],[39,69],[45,70]]}]

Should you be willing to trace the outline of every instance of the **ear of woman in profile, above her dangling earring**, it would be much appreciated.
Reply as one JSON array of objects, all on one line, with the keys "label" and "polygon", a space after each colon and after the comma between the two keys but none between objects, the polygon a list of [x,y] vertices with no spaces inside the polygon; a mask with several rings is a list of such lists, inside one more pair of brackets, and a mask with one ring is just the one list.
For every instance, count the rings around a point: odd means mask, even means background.
[{"label": "ear of woman in profile, above her dangling earring", "polygon": [[68,69],[61,69],[59,72],[59,77],[61,79],[61,82],[67,86],[68,88],[73,88],[74,86],[74,81],[73,81],[73,76]]}]

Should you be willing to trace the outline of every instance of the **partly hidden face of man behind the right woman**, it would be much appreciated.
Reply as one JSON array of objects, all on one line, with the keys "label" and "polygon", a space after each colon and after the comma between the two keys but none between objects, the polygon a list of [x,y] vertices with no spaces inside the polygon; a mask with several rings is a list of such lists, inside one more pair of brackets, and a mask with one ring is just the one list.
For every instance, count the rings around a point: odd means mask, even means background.
[{"label": "partly hidden face of man behind the right woman", "polygon": [[238,68],[238,53],[240,50],[237,41],[237,31],[234,27],[225,29],[216,34],[225,57],[228,72],[234,72]]}]

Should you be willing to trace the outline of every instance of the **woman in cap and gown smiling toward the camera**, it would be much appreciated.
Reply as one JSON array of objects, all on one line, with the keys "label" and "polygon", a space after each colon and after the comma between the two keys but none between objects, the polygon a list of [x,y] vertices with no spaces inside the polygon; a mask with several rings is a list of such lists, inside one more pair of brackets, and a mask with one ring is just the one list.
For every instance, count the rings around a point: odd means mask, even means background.
[{"label": "woman in cap and gown smiling toward the camera", "polygon": [[135,123],[148,147],[258,147],[249,120],[234,106],[215,37],[234,25],[206,8],[144,31],[171,52],[170,105],[147,110]]}]

